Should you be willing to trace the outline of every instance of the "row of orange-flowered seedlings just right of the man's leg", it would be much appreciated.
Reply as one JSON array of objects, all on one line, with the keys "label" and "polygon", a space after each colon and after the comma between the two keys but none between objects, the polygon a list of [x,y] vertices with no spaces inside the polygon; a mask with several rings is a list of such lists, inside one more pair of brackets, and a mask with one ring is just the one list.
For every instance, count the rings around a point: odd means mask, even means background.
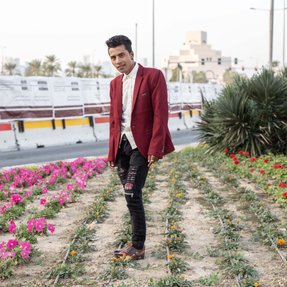
[{"label": "row of orange-flowered seedlings just right of the man's leg", "polygon": [[[182,274],[188,270],[189,265],[184,260],[184,251],[187,247],[185,233],[180,224],[183,220],[182,205],[187,201],[186,188],[183,185],[184,170],[180,167],[178,154],[169,156],[168,165],[168,205],[164,209],[163,221],[165,222],[164,239],[162,242],[163,257],[166,259],[167,276],[158,280],[151,279],[150,286],[191,286],[191,282],[184,279]],[[162,171],[164,172],[164,171]],[[161,256],[158,254],[158,256]]]}]

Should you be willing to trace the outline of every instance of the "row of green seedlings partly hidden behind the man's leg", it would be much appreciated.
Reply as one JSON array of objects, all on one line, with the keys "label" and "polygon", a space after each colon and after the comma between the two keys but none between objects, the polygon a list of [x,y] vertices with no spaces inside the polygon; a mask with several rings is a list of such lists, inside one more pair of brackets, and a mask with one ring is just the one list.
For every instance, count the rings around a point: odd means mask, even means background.
[{"label": "row of green seedlings partly hidden behind the man's leg", "polygon": [[[151,194],[156,189],[155,174],[157,168],[152,168],[149,171],[148,177],[143,188],[143,203],[148,204]],[[146,219],[148,220],[149,214],[146,210]],[[131,221],[129,212],[122,216],[122,226],[117,232],[117,237],[114,242],[115,249],[123,248],[131,242]],[[108,266],[99,274],[101,282],[109,282],[111,280],[124,280],[128,278],[127,268],[140,269],[141,266],[138,262],[131,260],[129,256],[112,257]],[[125,286],[124,283],[122,283]]]}]

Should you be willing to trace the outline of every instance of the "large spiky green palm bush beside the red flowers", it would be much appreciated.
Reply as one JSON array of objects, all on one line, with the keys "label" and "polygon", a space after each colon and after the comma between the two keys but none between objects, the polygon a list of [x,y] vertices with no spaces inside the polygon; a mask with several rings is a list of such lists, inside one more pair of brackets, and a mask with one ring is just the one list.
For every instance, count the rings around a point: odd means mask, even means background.
[{"label": "large spiky green palm bush beside the red flowers", "polygon": [[204,104],[198,129],[209,151],[287,152],[287,80],[271,70],[236,76],[214,102]]}]

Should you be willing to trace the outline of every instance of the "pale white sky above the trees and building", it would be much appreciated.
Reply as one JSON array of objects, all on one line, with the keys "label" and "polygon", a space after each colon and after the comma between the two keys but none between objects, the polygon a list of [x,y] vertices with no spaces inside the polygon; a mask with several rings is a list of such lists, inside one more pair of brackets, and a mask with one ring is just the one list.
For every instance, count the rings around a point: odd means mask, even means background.
[{"label": "pale white sky above the trees and building", "polygon": [[[207,32],[212,48],[221,50],[224,56],[237,57],[242,65],[268,63],[270,0],[154,3],[156,66],[180,49],[188,31],[199,30]],[[273,59],[280,62],[283,7],[284,0],[275,0]],[[82,60],[83,55],[89,55],[95,63],[108,61],[105,40],[114,34],[126,34],[134,41],[136,23],[138,59],[147,58],[151,65],[152,0],[1,1],[0,53],[18,57],[22,63],[50,54],[57,55],[63,66],[70,60]]]}]

